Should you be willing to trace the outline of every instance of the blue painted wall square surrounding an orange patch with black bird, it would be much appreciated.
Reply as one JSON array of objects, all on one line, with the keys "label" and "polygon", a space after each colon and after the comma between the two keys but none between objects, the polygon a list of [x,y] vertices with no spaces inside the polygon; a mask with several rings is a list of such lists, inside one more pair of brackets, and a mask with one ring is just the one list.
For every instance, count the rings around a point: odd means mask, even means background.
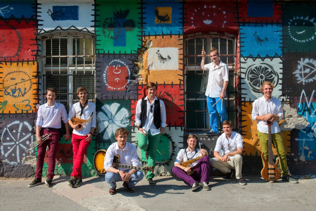
[{"label": "blue painted wall square surrounding an orange patch with black bird", "polygon": [[[143,4],[143,35],[155,35],[155,34],[182,34],[182,14],[183,11],[180,9],[183,5],[179,2],[164,2],[159,3],[156,1],[146,2]],[[171,23],[155,23],[155,18],[159,17],[161,20],[168,20],[170,16],[161,15],[159,7],[171,7]],[[156,9],[156,10],[155,10]],[[164,17],[165,16],[165,17]],[[170,22],[170,21],[169,21]]]}]

